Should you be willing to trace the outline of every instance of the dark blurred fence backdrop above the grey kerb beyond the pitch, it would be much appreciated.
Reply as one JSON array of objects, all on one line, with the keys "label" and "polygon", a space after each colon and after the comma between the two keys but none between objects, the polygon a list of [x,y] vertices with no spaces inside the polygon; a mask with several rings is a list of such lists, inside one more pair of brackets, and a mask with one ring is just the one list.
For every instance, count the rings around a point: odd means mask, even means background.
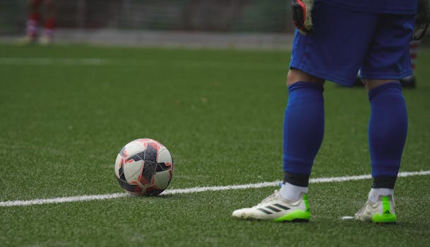
[{"label": "dark blurred fence backdrop above the grey kerb beyond the pitch", "polygon": [[[28,0],[2,0],[0,32],[22,32]],[[287,0],[56,0],[59,28],[292,32]]]}]

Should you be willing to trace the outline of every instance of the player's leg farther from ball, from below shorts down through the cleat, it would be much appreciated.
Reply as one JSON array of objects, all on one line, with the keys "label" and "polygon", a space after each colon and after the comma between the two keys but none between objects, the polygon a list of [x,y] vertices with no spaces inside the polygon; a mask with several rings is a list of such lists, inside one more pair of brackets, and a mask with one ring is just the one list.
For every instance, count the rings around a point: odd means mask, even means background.
[{"label": "player's leg farther from ball, from below shorts down through the cleat", "polygon": [[369,147],[374,178],[368,200],[356,219],[395,223],[394,185],[407,135],[407,111],[398,80],[364,80],[371,116]]}]

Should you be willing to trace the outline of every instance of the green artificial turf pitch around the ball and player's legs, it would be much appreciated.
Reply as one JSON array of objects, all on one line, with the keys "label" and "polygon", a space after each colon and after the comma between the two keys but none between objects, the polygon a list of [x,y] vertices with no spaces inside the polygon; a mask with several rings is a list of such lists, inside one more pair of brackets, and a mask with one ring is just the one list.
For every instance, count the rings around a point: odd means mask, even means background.
[{"label": "green artificial turf pitch around the ball and player's legs", "polygon": [[[85,60],[92,59],[92,60]],[[153,138],[174,156],[169,188],[282,179],[289,53],[0,45],[0,201],[121,192],[117,152]],[[430,50],[405,90],[401,171],[430,170]],[[326,83],[312,178],[370,174],[364,88]],[[311,184],[309,224],[232,219],[274,188],[0,207],[0,246],[426,246],[428,176],[398,179],[398,224],[340,217],[370,180]]]}]

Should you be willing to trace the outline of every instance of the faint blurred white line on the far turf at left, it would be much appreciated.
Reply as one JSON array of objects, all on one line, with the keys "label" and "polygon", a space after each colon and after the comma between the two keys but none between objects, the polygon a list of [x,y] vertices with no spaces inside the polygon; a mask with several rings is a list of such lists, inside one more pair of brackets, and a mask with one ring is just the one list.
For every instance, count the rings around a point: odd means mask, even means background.
[{"label": "faint blurred white line on the far turf at left", "polygon": [[85,66],[98,66],[108,64],[107,59],[68,59],[68,58],[16,58],[16,57],[0,57],[0,64],[2,65],[85,65]]}]

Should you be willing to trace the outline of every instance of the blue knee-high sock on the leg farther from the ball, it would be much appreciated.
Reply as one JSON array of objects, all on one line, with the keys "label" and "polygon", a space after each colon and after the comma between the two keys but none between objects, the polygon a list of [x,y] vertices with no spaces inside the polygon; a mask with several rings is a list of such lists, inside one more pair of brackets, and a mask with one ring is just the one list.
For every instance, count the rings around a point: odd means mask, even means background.
[{"label": "blue knee-high sock on the leg farther from the ball", "polygon": [[[394,187],[407,135],[407,110],[402,87],[397,82],[380,85],[370,90],[369,101],[369,147],[374,188]],[[388,183],[386,179],[386,182],[378,179],[384,177],[394,179],[388,179]]]}]

